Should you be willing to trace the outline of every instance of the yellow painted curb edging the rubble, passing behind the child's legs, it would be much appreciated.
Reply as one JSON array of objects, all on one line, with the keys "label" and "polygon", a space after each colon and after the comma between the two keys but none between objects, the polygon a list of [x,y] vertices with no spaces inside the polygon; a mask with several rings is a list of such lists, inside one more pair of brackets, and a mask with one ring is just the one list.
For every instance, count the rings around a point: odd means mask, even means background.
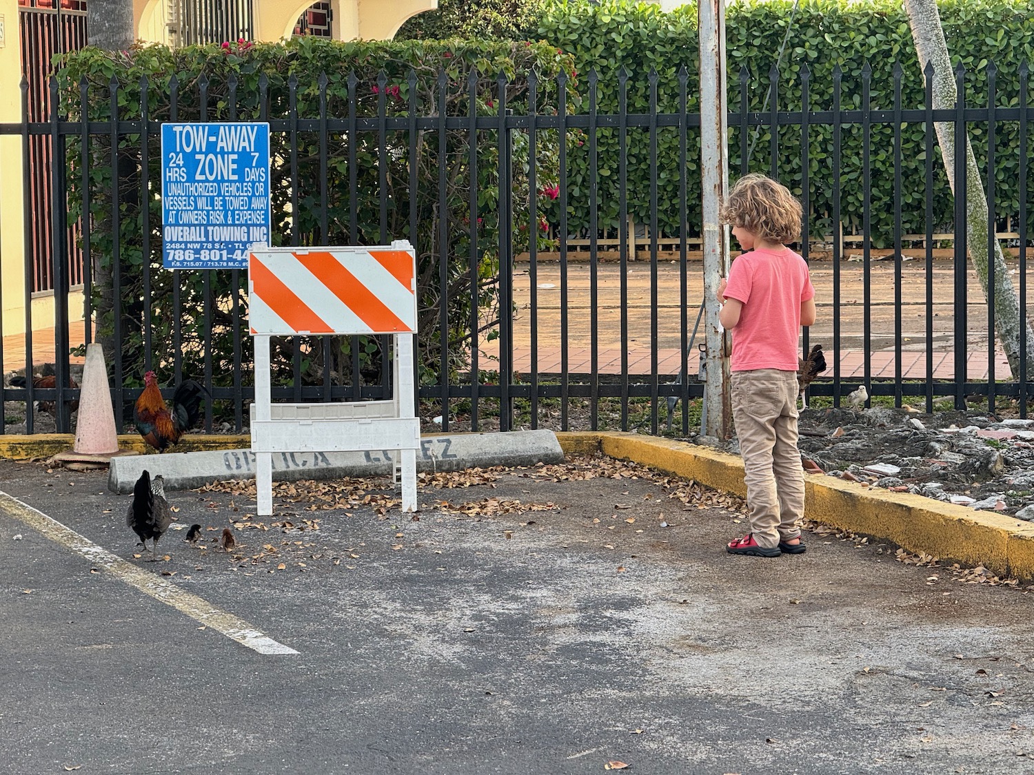
[{"label": "yellow painted curb edging the rubble, passing behind the child's legs", "polygon": [[[557,433],[565,454],[601,452],[747,494],[742,461],[682,441],[634,433]],[[893,541],[942,560],[983,565],[999,576],[1034,579],[1034,525],[911,493],[871,490],[857,483],[805,474],[804,516],[862,535]]]}]

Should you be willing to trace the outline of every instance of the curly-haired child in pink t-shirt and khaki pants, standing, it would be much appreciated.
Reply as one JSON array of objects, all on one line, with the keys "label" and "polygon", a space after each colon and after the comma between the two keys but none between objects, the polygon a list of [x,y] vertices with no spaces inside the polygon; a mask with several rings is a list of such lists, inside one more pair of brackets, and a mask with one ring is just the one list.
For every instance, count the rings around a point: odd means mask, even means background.
[{"label": "curly-haired child in pink t-shirt and khaki pants, standing", "polygon": [[732,417],[743,458],[751,532],[730,554],[801,554],[804,472],[797,450],[797,335],[815,322],[808,265],[786,247],[800,236],[800,203],[763,175],[740,178],[722,219],[746,252],[719,284],[719,319],[732,332]]}]

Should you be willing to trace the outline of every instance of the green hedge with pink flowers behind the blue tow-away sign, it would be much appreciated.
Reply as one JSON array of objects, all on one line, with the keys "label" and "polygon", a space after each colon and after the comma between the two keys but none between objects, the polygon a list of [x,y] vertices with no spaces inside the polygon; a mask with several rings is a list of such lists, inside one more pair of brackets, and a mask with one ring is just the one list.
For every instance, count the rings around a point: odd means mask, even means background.
[{"label": "green hedge with pink flowers behind the blue tow-away sign", "polygon": [[[297,111],[302,119],[320,117],[318,76],[327,74],[327,115],[332,119],[348,116],[348,75],[356,75],[357,116],[375,117],[384,110],[387,116],[405,117],[409,109],[409,75],[416,78],[416,106],[418,116],[437,115],[437,79],[439,69],[446,73],[448,86],[447,113],[467,116],[472,105],[467,96],[468,78],[477,83],[477,100],[474,111],[481,116],[494,116],[498,99],[496,76],[500,71],[510,80],[507,99],[518,113],[527,110],[526,74],[533,70],[551,74],[560,68],[571,69],[570,57],[559,54],[555,47],[523,42],[472,41],[407,41],[407,42],[348,42],[306,37],[296,38],[285,44],[255,44],[244,41],[220,45],[189,47],[170,50],[165,47],[147,45],[130,52],[108,54],[95,49],[85,49],[68,55],[59,70],[63,107],[72,119],[83,113],[80,85],[88,87],[85,112],[91,120],[105,121],[111,115],[110,82],[118,85],[118,111],[121,120],[135,120],[141,116],[142,80],[146,79],[148,118],[152,122],[171,117],[170,80],[175,74],[179,84],[178,121],[196,121],[201,117],[199,86],[202,76],[207,79],[207,118],[210,121],[254,121],[261,117],[260,80],[268,82],[268,118],[283,119],[288,115],[291,80],[298,79]],[[236,96],[231,99],[231,80],[236,79]],[[538,104],[541,111],[556,111],[557,94],[548,84],[539,89]],[[232,104],[233,103],[233,104]],[[235,113],[236,111],[236,113]],[[273,210],[273,242],[277,245],[295,244],[378,244],[382,240],[382,198],[387,202],[388,239],[409,239],[418,249],[418,292],[420,353],[424,382],[440,378],[440,306],[443,292],[440,279],[448,287],[448,342],[450,361],[447,370],[456,372],[467,366],[472,337],[476,327],[492,328],[498,314],[497,295],[497,241],[498,241],[498,141],[490,130],[479,133],[478,203],[480,227],[475,288],[472,285],[469,249],[469,167],[468,133],[463,129],[450,129],[447,134],[445,156],[438,146],[436,131],[420,132],[417,137],[419,154],[418,185],[409,187],[408,134],[390,131],[386,136],[387,154],[379,161],[379,141],[376,131],[361,132],[354,148],[349,149],[347,135],[332,131],[328,137],[327,192],[329,228],[323,234],[321,225],[322,185],[320,133],[306,130],[298,132],[297,186],[293,185],[290,132],[275,130],[271,137],[273,178],[271,181]],[[149,213],[150,246],[145,254],[143,244],[144,204],[141,202],[142,149],[140,134],[120,137],[118,148],[120,169],[120,272],[123,341],[116,343],[123,355],[127,384],[143,377],[145,307],[151,305],[153,338],[152,351],[155,367],[162,380],[170,378],[174,350],[172,307],[173,274],[161,269],[160,200],[156,195],[159,178],[159,142],[152,136],[148,146],[151,194],[144,197]],[[555,146],[555,144],[554,144]],[[555,183],[555,148],[540,143],[541,165],[537,188]],[[349,151],[356,155],[355,169],[349,166]],[[69,169],[82,168],[82,146],[78,140],[68,143]],[[90,173],[90,239],[94,276],[98,279],[112,272],[112,162],[111,143],[107,134],[93,135],[89,148]],[[526,148],[517,145],[514,150],[516,228],[528,227],[528,178],[526,175]],[[387,190],[381,190],[379,163],[387,165]],[[446,172],[446,197],[444,207],[439,197],[439,171]],[[554,171],[552,174],[550,171]],[[349,199],[349,177],[356,176],[358,195]],[[79,173],[72,172],[70,217],[79,216],[84,203],[83,187],[78,183]],[[543,202],[548,196],[537,192]],[[297,196],[298,207],[292,207]],[[416,197],[418,211],[417,234],[410,234],[410,203]],[[356,229],[351,228],[352,211],[356,211]],[[293,214],[297,214],[294,217]],[[449,218],[447,231],[449,257],[443,269],[439,253],[443,215]],[[543,235],[538,224],[534,229]],[[543,247],[547,247],[543,243]],[[143,267],[150,267],[151,292],[144,293]],[[246,273],[240,273],[240,280]],[[210,307],[213,318],[211,329],[205,327],[202,315],[204,305],[204,278],[211,281]],[[235,321],[231,302],[234,287],[230,271],[182,271],[182,309],[184,371],[199,375],[202,370],[205,343],[211,341],[214,359],[213,371],[216,384],[230,384],[233,363],[226,359],[234,351]],[[103,293],[109,295],[111,284],[98,282],[94,303],[104,310]],[[480,310],[480,319],[472,314],[474,297]],[[110,337],[114,318],[110,312],[98,319],[98,338]],[[251,361],[250,337],[244,330],[244,363]],[[353,373],[353,359],[358,359],[363,373],[375,379],[370,369],[378,368],[372,357],[377,352],[376,342],[361,338],[361,349],[349,350],[349,342],[341,340],[338,349],[323,351],[323,340],[295,338],[280,340],[274,354],[274,368],[285,378],[291,378],[291,364],[295,347],[302,351],[304,383],[323,382],[323,366],[330,359],[336,381],[348,382]]]}]

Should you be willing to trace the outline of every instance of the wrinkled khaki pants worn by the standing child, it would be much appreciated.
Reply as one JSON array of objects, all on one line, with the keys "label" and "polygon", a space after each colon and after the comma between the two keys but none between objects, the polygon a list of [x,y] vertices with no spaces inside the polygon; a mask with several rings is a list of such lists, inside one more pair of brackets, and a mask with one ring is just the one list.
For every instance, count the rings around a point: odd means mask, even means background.
[{"label": "wrinkled khaki pants worn by the standing child", "polygon": [[739,438],[751,531],[774,548],[800,535],[804,471],[797,448],[797,373],[732,372],[732,417]]}]

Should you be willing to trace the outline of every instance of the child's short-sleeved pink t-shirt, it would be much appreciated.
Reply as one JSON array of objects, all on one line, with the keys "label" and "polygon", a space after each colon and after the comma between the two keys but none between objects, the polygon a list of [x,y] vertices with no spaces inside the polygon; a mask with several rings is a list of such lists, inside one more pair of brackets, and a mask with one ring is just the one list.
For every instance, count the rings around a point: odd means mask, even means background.
[{"label": "child's short-sleeved pink t-shirt", "polygon": [[789,248],[743,253],[732,262],[725,295],[743,303],[731,369],[796,371],[800,305],[815,296],[804,259]]}]

